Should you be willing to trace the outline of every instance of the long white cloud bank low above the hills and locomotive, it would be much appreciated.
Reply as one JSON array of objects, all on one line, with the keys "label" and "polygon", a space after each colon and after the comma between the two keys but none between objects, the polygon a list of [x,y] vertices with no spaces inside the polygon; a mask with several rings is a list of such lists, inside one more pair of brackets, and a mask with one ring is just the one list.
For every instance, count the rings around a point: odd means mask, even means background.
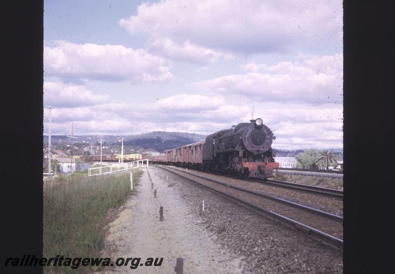
[{"label": "long white cloud bank low above the hills and locomotive", "polygon": [[235,105],[227,103],[222,97],[187,94],[144,105],[104,103],[55,108],[52,110],[52,122],[55,125],[52,132],[64,133],[68,122],[77,121],[80,134],[128,135],[155,130],[207,135],[237,123],[248,122],[253,107],[254,118],[262,118],[275,133],[276,148],[342,146],[342,106],[339,104],[245,101]]}]

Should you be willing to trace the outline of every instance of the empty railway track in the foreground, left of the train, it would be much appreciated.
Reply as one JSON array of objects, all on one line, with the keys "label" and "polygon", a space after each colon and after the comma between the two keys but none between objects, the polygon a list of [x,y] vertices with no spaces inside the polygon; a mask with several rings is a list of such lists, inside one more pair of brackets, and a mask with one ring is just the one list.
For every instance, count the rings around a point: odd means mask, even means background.
[{"label": "empty railway track in the foreground, left of the train", "polygon": [[187,171],[158,167],[230,198],[260,214],[305,231],[316,239],[339,248],[343,247],[343,217],[341,216]]}]

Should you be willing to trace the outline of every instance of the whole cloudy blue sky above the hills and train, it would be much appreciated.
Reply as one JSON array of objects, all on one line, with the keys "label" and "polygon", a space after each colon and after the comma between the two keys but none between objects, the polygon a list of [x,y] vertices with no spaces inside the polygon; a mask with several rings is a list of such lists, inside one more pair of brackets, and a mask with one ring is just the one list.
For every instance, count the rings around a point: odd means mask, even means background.
[{"label": "whole cloudy blue sky above the hills and train", "polygon": [[44,134],[208,135],[262,118],[277,149],[343,147],[340,0],[44,0]]}]

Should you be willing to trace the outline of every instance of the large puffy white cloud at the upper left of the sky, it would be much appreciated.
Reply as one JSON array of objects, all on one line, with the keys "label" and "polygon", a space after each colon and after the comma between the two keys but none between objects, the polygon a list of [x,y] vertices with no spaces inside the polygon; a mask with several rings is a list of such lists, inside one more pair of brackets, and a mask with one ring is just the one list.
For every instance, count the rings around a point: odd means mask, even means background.
[{"label": "large puffy white cloud at the upper left of the sky", "polygon": [[165,60],[122,45],[75,44],[64,40],[44,46],[45,76],[83,80],[165,82],[172,78]]}]

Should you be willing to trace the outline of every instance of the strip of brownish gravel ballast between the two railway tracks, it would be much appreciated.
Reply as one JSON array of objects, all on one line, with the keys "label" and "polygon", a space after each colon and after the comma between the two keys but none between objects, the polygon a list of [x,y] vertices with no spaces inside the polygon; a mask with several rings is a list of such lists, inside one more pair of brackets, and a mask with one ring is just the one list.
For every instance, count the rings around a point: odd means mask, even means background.
[{"label": "strip of brownish gravel ballast between the two railway tracks", "polygon": [[[171,166],[171,168],[186,171],[186,169],[184,168],[178,168],[173,166]],[[205,176],[207,178],[228,182],[240,187],[248,188],[277,198],[288,200],[290,202],[298,203],[304,206],[310,206],[322,211],[343,216],[343,201],[336,198],[322,197],[319,195],[304,193],[297,190],[290,190],[281,187],[270,186],[259,182],[239,180],[239,179],[229,178],[221,175],[215,175],[202,171],[195,171],[189,169],[188,172],[192,174]]]}]

